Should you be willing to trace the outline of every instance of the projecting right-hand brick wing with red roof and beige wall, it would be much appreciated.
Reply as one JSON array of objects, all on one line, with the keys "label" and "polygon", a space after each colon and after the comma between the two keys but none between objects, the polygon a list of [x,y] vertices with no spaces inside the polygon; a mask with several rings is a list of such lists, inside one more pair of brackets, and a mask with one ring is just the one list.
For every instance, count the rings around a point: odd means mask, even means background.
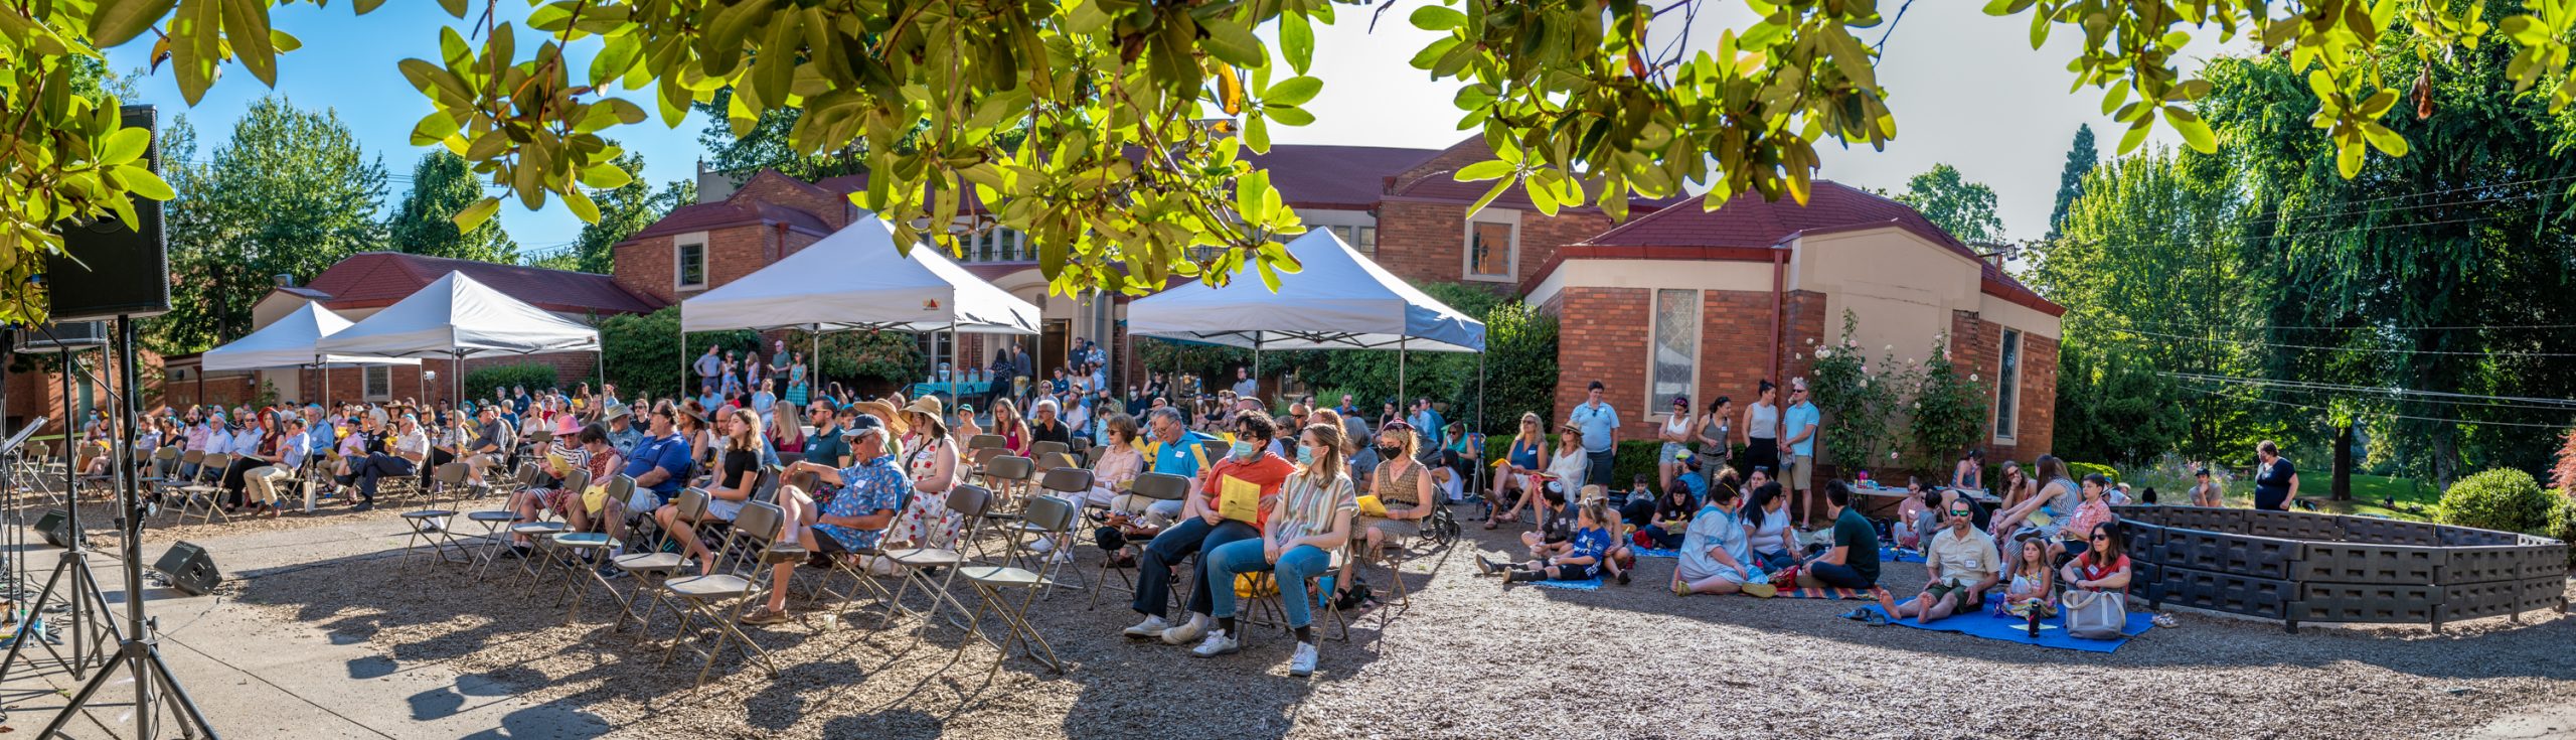
[{"label": "projecting right-hand brick wing with red roof and beige wall", "polygon": [[1556,250],[1522,286],[1561,320],[1558,410],[1600,379],[1620,438],[1654,438],[1674,394],[1741,407],[1759,382],[1803,376],[1850,312],[1873,361],[1947,338],[1986,392],[1989,459],[2030,459],[2053,438],[2066,309],[1999,263],[1904,204],[1819,180],[1806,206],[1739,196],[1631,219]]}]

